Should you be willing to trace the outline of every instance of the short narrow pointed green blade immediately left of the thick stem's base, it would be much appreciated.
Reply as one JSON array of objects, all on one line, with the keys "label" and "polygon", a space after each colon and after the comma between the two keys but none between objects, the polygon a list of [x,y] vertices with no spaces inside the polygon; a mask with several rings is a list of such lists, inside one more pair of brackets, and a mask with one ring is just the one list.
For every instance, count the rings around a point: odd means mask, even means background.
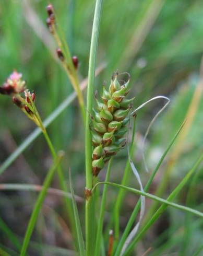
[{"label": "short narrow pointed green blade immediately left of the thick stem's base", "polygon": [[80,218],[79,218],[79,214],[78,214],[78,208],[77,208],[76,201],[75,201],[75,195],[74,195],[74,190],[73,190],[73,184],[71,181],[70,170],[69,170],[69,181],[70,181],[70,192],[71,192],[71,196],[72,196],[71,198],[72,198],[72,204],[73,204],[76,232],[77,232],[77,238],[78,238],[78,247],[79,247],[80,256],[83,256],[83,255],[85,255],[85,243],[84,243],[83,237],[82,237],[82,229],[81,229]]}]

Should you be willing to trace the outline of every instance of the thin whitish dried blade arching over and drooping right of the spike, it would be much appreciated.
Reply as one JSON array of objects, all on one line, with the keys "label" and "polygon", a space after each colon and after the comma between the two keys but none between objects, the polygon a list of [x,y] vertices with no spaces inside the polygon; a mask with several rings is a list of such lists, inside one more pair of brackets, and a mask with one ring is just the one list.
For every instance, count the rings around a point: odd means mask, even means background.
[{"label": "thin whitish dried blade arching over and drooping right of the spike", "polygon": [[149,169],[148,169],[148,166],[147,166],[147,161],[146,161],[146,158],[145,158],[145,142],[146,142],[146,138],[147,138],[147,135],[149,134],[149,131],[150,131],[150,128],[152,126],[152,124],[154,123],[154,121],[158,118],[159,114],[168,106],[169,102],[170,102],[170,99],[168,97],[165,97],[165,96],[156,96],[156,97],[153,97],[151,98],[150,100],[144,102],[143,104],[141,104],[137,109],[135,109],[132,113],[130,113],[130,115],[133,115],[135,114],[139,109],[143,108],[146,106],[146,104],[148,104],[149,102],[153,101],[153,100],[157,100],[157,99],[166,99],[167,102],[164,104],[164,106],[157,112],[156,115],[154,115],[153,119],[151,120],[149,126],[147,127],[147,131],[145,133],[145,136],[144,136],[144,139],[143,139],[143,142],[142,142],[142,159],[143,159],[143,162],[144,162],[144,166],[145,166],[145,170],[147,172],[149,172]]}]

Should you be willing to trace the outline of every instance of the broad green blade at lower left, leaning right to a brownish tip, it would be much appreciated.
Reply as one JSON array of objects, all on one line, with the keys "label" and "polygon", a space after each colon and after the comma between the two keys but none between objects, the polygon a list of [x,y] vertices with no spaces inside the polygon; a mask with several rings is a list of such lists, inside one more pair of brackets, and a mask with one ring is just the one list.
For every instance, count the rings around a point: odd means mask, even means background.
[{"label": "broad green blade at lower left, leaning right to a brownish tip", "polygon": [[46,178],[43,182],[43,189],[42,189],[42,191],[40,192],[40,194],[38,196],[37,202],[34,205],[32,215],[31,215],[30,220],[29,220],[28,228],[26,230],[26,235],[24,237],[22,248],[21,248],[21,251],[20,251],[20,256],[24,256],[26,254],[26,251],[27,251],[27,248],[28,248],[28,245],[29,245],[29,241],[30,241],[35,223],[37,221],[40,209],[41,209],[42,204],[44,202],[47,190],[50,187],[51,181],[54,177],[55,169],[59,165],[60,160],[61,160],[61,157],[58,158],[57,161],[54,162],[54,165],[48,171],[48,173],[46,175]]}]

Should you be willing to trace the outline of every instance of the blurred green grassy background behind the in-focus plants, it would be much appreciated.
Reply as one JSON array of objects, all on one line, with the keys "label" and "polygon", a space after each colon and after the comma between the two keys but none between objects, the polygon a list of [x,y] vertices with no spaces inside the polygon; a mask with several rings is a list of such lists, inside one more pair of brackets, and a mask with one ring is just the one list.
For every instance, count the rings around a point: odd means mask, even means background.
[{"label": "blurred green grassy background behind the in-focus plants", "polygon": [[[54,59],[56,45],[45,27],[45,6],[48,3],[44,0],[0,0],[0,82],[3,84],[14,69],[21,72],[27,80],[27,87],[37,95],[36,104],[42,119],[73,91],[66,74]],[[53,0],[52,4],[70,51],[79,58],[82,81],[88,74],[95,1]],[[97,66],[105,63],[105,68],[95,79],[95,88],[100,91],[104,80],[110,83],[112,73],[118,69],[132,76],[130,94],[136,96],[134,107],[157,95],[171,99],[169,107],[152,126],[147,138],[146,156],[150,170],[187,117],[182,135],[151,187],[151,193],[156,191],[164,179],[164,171],[169,170],[165,193],[162,195],[164,198],[193,166],[202,150],[202,9],[202,0],[104,1]],[[151,119],[163,104],[163,100],[154,101],[138,113],[134,162],[143,183],[146,183],[149,173],[145,171],[141,158],[142,139]],[[0,120],[2,164],[33,131],[34,124],[13,105],[9,97],[3,96],[0,97]],[[50,125],[48,132],[56,149],[65,150],[63,165],[66,177],[71,167],[75,192],[83,196],[85,131],[76,100]],[[116,155],[112,181],[121,182],[126,159],[126,149]],[[0,182],[41,184],[50,164],[49,149],[44,138],[39,136],[0,176]],[[192,206],[200,211],[203,210],[202,170],[201,167],[196,176],[190,200]],[[104,173],[105,170],[100,174],[101,180],[104,179]],[[138,187],[133,174],[129,185]],[[54,186],[57,186],[57,180]],[[178,202],[185,204],[187,191],[188,187],[182,191]],[[106,224],[116,194],[115,189],[109,189]],[[33,192],[0,191],[1,217],[19,238],[25,233],[36,196]],[[135,195],[127,194],[121,214],[122,227],[136,200]],[[66,250],[49,252],[49,248],[43,246],[49,244],[54,248],[68,248],[67,241],[70,241],[69,230],[65,225],[66,216],[63,215],[58,197],[47,196],[45,204],[33,237],[35,243],[32,244],[31,255],[67,255]],[[150,201],[147,204],[150,205]],[[185,214],[169,209],[148,232],[146,239],[139,243],[137,255],[142,255],[149,247],[152,250],[148,255],[193,255],[195,249],[202,245],[203,229],[202,220],[190,218],[191,225],[187,229]],[[2,247],[13,249],[2,230],[0,241]],[[36,252],[38,245],[40,250]],[[199,255],[203,255],[203,251]]]}]

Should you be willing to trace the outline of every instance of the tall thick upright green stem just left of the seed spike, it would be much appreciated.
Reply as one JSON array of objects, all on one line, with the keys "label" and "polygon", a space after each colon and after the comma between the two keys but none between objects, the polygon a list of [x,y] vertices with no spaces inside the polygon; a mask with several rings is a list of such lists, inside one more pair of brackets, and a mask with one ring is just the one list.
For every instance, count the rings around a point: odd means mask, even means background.
[{"label": "tall thick upright green stem just left of the seed spike", "polygon": [[[87,112],[86,112],[86,189],[92,189],[92,142],[90,131],[90,116],[93,107],[93,94],[94,94],[94,76],[95,76],[95,62],[99,38],[100,16],[102,9],[102,0],[97,0],[94,11],[94,20],[92,27],[92,38],[90,45],[90,58],[89,58],[89,71],[88,71],[88,91],[87,91]],[[93,212],[92,196],[86,200],[86,255],[90,256],[94,253],[94,237],[93,237]]]}]

